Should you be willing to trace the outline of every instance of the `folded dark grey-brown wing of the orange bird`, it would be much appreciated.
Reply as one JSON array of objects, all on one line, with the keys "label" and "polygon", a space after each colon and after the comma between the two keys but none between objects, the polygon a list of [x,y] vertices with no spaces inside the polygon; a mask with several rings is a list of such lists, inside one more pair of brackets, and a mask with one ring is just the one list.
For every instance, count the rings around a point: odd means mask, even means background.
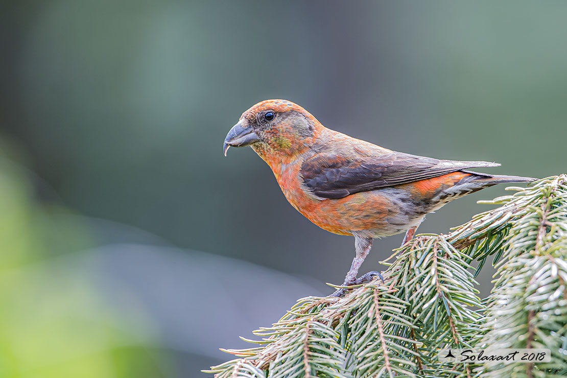
[{"label": "folded dark grey-brown wing of the orange bird", "polygon": [[343,198],[386,186],[430,179],[475,167],[496,167],[490,162],[457,162],[392,152],[356,159],[319,153],[301,167],[303,182],[321,198]]}]

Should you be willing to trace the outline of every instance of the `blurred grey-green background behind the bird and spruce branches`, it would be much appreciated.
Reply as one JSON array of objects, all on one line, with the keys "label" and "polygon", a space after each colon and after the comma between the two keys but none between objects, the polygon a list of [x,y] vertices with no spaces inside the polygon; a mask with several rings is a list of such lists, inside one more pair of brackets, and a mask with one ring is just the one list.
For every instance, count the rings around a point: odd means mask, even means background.
[{"label": "blurred grey-green background behind the bird and spruce branches", "polygon": [[205,376],[342,282],[353,239],[289,206],[251,149],[221,153],[260,100],[393,150],[565,172],[566,18],[560,1],[2,2],[0,376]]}]

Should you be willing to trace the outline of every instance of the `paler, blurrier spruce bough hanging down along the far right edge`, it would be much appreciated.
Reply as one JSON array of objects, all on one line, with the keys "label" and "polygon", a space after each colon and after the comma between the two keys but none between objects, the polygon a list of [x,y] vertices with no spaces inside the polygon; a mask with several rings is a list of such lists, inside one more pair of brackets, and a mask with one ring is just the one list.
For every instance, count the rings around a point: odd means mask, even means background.
[{"label": "paler, blurrier spruce bough hanging down along the far right edge", "polygon": [[486,302],[481,345],[548,348],[550,363],[484,366],[486,377],[567,375],[567,180],[536,185],[518,211]]}]

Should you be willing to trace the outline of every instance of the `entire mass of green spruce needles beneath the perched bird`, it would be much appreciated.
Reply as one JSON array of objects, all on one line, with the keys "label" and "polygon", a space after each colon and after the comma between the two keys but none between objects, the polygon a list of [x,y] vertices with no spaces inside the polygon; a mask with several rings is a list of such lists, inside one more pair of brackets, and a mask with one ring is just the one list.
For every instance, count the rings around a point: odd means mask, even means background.
[{"label": "entire mass of green spruce needles beneath the perched bird", "polygon": [[[448,235],[418,235],[343,298],[298,300],[216,377],[567,375],[567,175],[534,182]],[[483,300],[476,274],[497,273]],[[387,261],[388,261],[387,260]],[[477,262],[476,270],[471,266]],[[441,348],[547,348],[549,363],[439,363]]]}]

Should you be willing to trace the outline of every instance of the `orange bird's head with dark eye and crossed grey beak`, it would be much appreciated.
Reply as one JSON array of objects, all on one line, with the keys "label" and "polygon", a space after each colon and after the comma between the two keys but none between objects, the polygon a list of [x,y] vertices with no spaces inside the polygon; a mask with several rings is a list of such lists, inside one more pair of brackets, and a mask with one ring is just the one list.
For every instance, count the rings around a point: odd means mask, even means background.
[{"label": "orange bird's head with dark eye and crossed grey beak", "polygon": [[229,147],[251,146],[264,160],[291,158],[310,147],[323,128],[319,121],[287,100],[265,100],[242,113],[226,135]]}]

